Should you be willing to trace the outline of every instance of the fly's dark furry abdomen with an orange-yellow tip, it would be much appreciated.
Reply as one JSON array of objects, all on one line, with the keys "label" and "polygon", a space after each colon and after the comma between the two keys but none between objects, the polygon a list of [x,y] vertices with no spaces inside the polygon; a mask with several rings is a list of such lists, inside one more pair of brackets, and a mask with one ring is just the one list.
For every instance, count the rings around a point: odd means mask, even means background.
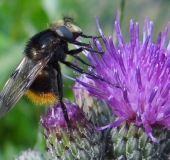
[{"label": "fly's dark furry abdomen with an orange-yellow tip", "polygon": [[26,96],[36,104],[54,103],[58,98],[54,69],[47,65],[37,76]]}]

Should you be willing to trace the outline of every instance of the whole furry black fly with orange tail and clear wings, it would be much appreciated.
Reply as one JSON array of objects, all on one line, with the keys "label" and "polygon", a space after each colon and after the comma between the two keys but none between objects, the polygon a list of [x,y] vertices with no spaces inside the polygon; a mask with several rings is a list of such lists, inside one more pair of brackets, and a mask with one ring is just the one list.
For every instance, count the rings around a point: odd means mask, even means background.
[{"label": "whole furry black fly with orange tail and clear wings", "polygon": [[[60,101],[64,117],[69,118],[63,99],[62,73],[59,63],[78,71],[93,76],[102,81],[102,77],[85,72],[79,66],[66,61],[70,55],[88,65],[79,56],[83,50],[103,53],[93,50],[89,44],[77,41],[78,37],[95,38],[84,35],[79,27],[73,24],[69,17],[49,25],[31,37],[24,50],[24,56],[0,92],[0,118],[6,115],[24,95],[39,104]],[[96,37],[98,38],[98,37]],[[78,49],[68,49],[68,44],[79,46]]]}]

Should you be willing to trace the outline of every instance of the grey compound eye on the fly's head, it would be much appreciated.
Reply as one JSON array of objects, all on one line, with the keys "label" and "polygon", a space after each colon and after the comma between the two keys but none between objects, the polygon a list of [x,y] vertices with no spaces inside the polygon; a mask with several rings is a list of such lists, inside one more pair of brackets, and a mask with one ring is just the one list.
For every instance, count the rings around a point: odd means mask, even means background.
[{"label": "grey compound eye on the fly's head", "polygon": [[71,41],[73,40],[73,33],[65,26],[58,26],[54,31],[64,40]]}]

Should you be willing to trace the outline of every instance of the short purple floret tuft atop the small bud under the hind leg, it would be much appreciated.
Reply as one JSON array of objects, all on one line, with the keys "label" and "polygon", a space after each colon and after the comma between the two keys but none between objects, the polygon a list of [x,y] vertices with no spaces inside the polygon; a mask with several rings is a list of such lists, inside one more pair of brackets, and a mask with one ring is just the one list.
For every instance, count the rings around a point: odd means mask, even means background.
[{"label": "short purple floret tuft atop the small bud under the hind leg", "polygon": [[[65,106],[72,129],[77,127],[77,122],[79,122],[80,125],[86,124],[84,112],[78,107],[77,104],[71,103],[69,100],[65,99]],[[57,131],[59,128],[67,129],[67,123],[65,121],[65,117],[63,116],[60,102],[56,103],[53,108],[49,107],[47,109],[46,116],[41,116],[41,123],[47,131]]]}]

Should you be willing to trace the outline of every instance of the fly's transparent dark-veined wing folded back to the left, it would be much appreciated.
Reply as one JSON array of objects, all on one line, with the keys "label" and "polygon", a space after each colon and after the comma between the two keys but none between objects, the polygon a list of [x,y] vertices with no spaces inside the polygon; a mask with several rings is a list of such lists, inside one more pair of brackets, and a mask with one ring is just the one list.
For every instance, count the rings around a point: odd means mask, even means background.
[{"label": "fly's transparent dark-veined wing folded back to the left", "polygon": [[0,93],[0,118],[15,106],[50,58],[51,55],[38,62],[27,57],[22,59]]}]

